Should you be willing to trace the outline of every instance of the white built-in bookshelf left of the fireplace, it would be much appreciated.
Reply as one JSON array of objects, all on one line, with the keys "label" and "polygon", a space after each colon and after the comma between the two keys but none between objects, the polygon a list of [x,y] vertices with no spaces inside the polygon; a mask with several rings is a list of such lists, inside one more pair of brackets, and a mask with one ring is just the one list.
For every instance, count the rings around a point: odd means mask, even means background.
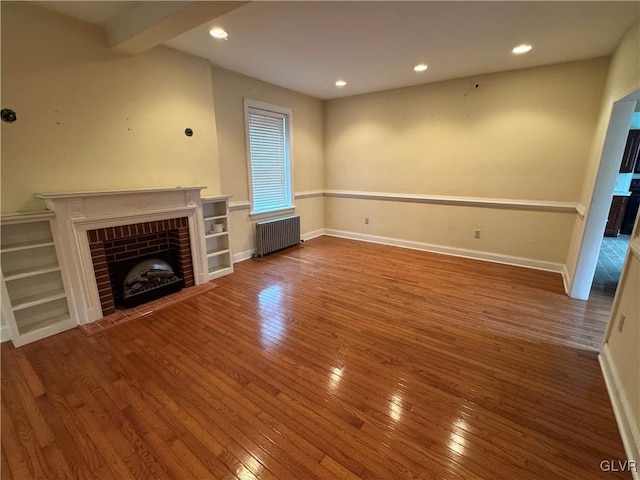
[{"label": "white built-in bookshelf left of the fireplace", "polygon": [[2,318],[16,347],[75,326],[51,228],[54,215],[2,216]]}]

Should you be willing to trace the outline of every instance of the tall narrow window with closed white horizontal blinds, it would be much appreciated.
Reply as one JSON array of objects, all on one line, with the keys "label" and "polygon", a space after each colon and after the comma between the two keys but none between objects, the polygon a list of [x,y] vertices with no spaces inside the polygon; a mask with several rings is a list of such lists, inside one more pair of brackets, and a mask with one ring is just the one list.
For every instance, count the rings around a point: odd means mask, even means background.
[{"label": "tall narrow window with closed white horizontal blinds", "polygon": [[291,208],[290,110],[245,100],[254,214]]}]

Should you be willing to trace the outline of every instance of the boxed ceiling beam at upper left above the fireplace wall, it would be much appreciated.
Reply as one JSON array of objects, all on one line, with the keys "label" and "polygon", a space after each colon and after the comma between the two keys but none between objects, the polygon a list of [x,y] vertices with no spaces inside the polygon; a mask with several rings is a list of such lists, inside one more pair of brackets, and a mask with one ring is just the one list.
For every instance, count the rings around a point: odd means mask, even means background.
[{"label": "boxed ceiling beam at upper left above the fireplace wall", "polygon": [[143,2],[107,27],[109,48],[137,55],[249,2]]}]

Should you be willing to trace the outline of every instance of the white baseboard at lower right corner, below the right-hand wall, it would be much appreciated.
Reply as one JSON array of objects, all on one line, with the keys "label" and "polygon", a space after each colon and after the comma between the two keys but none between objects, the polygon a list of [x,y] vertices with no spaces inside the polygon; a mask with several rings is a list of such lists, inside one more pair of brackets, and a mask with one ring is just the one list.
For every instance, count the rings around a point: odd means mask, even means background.
[{"label": "white baseboard at lower right corner, below the right-hand wall", "polygon": [[[600,355],[598,355],[598,360],[600,360],[602,376],[607,385],[611,406],[613,407],[613,413],[618,423],[618,429],[620,430],[624,451],[627,454],[627,460],[635,461],[636,465],[640,466],[640,425],[638,425],[636,423],[637,420],[633,418],[631,406],[629,405],[629,397],[626,394],[624,385],[620,381],[618,369],[613,362],[608,344],[605,343],[602,347]],[[640,470],[640,468],[636,470]],[[632,472],[632,475],[635,480],[640,480],[640,471]]]}]

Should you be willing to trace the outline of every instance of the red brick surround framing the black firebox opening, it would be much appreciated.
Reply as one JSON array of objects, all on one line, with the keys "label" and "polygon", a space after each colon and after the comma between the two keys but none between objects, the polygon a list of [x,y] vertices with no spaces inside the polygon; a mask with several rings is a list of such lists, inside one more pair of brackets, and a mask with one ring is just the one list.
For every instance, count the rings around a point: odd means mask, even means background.
[{"label": "red brick surround framing the black firebox opening", "polygon": [[177,252],[185,287],[194,285],[187,217],[87,231],[102,315],[116,311],[115,262],[160,250]]}]

